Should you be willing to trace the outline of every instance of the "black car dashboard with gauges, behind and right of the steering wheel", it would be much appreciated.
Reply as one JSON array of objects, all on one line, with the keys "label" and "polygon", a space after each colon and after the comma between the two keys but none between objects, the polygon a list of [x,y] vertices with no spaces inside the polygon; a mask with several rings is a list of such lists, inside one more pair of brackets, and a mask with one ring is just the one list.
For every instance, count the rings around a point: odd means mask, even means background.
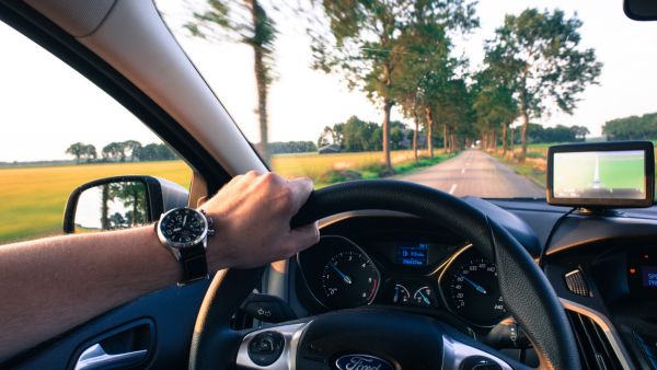
[{"label": "black car dashboard with gauges, behind and right of the steering wheel", "polygon": [[[464,199],[538,258],[568,210],[530,200]],[[300,315],[382,305],[434,316],[529,366],[535,352],[504,308],[494,263],[440,221],[385,211],[326,220],[321,241],[290,263]],[[564,304],[584,369],[657,369],[657,208],[570,215],[544,274]]]}]

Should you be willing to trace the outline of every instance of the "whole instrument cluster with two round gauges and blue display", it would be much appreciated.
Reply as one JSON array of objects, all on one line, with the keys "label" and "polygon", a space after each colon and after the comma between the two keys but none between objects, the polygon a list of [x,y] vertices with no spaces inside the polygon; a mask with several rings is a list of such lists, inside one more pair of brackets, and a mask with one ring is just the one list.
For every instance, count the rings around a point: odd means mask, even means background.
[{"label": "whole instrument cluster with two round gauges and blue display", "polygon": [[368,304],[446,310],[486,327],[508,314],[493,262],[465,243],[390,233],[322,235],[298,255],[308,291],[325,310]]}]

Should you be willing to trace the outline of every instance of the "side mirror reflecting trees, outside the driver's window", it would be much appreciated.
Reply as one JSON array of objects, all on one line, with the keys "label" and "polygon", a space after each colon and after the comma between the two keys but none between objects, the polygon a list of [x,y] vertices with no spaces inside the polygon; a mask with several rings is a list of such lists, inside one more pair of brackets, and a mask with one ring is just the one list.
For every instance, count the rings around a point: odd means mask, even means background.
[{"label": "side mirror reflecting trees, outside the driver's window", "polygon": [[154,222],[162,212],[187,205],[189,193],[170,181],[141,175],[105,177],[69,196],[64,232],[128,229]]}]

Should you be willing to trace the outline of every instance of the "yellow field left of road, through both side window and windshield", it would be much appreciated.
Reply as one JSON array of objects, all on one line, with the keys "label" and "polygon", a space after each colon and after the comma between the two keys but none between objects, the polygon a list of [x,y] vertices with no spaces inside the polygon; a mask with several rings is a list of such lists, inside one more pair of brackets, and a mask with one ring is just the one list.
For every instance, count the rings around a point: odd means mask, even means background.
[{"label": "yellow field left of road, through both side window and windshield", "polygon": [[[433,160],[413,161],[412,151],[395,151],[395,171],[404,173]],[[380,152],[277,155],[274,171],[286,177],[308,176],[318,187],[350,178],[376,178],[383,170]],[[0,244],[60,233],[64,208],[77,186],[89,181],[126,174],[152,175],[188,187],[192,171],[182,161],[111,163],[0,169]]]}]

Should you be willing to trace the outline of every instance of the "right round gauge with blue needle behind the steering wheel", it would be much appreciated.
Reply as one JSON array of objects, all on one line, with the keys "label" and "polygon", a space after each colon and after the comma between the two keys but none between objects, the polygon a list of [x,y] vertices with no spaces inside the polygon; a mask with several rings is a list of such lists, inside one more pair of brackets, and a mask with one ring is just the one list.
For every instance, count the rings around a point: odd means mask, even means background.
[{"label": "right round gauge with blue needle behind the steering wheel", "polygon": [[495,264],[472,247],[454,257],[440,286],[448,307],[473,324],[495,325],[507,316]]}]

